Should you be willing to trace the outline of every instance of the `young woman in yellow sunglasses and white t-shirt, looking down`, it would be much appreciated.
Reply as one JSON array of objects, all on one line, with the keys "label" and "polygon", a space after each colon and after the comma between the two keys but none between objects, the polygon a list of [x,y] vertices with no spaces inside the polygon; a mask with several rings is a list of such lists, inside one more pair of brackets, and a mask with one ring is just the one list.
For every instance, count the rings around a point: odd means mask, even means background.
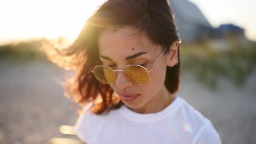
[{"label": "young woman in yellow sunglasses and white t-shirt, looking down", "polygon": [[177,95],[179,36],[167,0],[107,0],[61,53],[76,70],[66,94],[83,106],[75,130],[85,143],[221,144]]}]

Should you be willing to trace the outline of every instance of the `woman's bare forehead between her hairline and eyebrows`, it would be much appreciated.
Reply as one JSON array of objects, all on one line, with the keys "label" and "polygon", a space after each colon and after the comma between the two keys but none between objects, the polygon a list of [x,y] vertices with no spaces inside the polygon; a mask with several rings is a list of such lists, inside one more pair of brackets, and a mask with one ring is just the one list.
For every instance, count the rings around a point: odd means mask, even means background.
[{"label": "woman's bare forehead between her hairline and eyebrows", "polygon": [[155,52],[157,45],[151,42],[144,32],[133,27],[124,27],[114,31],[104,29],[98,39],[99,53],[104,56],[120,59],[136,52]]}]

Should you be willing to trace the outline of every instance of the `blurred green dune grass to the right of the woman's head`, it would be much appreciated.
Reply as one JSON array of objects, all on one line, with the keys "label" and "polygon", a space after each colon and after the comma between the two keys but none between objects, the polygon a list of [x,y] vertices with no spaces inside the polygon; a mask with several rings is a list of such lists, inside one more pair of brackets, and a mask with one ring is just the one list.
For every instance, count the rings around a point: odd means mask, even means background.
[{"label": "blurred green dune grass to the right of the woman's head", "polygon": [[255,43],[229,41],[230,48],[216,50],[209,42],[181,46],[181,67],[190,70],[202,83],[218,88],[220,78],[242,87],[256,66]]}]

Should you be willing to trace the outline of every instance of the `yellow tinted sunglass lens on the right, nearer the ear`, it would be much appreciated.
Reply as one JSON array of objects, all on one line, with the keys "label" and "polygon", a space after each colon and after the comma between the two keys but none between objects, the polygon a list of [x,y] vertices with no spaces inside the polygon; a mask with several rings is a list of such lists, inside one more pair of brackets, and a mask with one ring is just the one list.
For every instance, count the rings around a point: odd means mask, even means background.
[{"label": "yellow tinted sunglass lens on the right, nearer the ear", "polygon": [[149,73],[143,67],[128,65],[125,67],[124,72],[128,80],[134,83],[145,84],[149,81]]}]

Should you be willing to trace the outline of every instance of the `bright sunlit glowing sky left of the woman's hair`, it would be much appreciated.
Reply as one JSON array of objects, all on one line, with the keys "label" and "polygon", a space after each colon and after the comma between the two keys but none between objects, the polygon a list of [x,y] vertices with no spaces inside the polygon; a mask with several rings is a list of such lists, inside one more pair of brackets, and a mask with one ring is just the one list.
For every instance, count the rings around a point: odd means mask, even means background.
[{"label": "bright sunlit glowing sky left of the woman's hair", "polygon": [[0,43],[59,36],[74,40],[86,19],[103,2],[104,0],[0,1]]}]

